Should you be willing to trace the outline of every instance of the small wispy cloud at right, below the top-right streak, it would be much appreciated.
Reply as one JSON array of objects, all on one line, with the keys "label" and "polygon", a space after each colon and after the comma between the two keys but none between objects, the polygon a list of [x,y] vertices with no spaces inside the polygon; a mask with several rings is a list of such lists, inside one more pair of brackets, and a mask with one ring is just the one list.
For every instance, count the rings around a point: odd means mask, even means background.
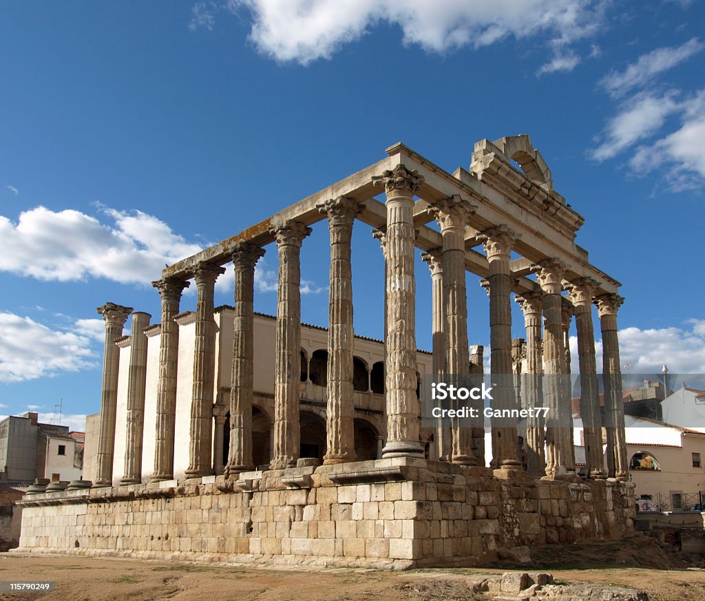
[{"label": "small wispy cloud at right, below the top-right streak", "polygon": [[620,112],[608,121],[603,141],[592,151],[596,161],[612,159],[639,140],[657,132],[666,118],[680,109],[676,92],[638,94],[624,103]]}]

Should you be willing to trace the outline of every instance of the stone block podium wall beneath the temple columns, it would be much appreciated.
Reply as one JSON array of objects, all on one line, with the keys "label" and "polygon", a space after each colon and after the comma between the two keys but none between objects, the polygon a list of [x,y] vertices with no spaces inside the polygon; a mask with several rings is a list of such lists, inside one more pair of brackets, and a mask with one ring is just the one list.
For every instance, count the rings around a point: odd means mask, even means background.
[{"label": "stone block podium wall beneath the temple columns", "polygon": [[632,486],[498,478],[421,459],[250,472],[23,500],[22,552],[405,569],[620,538]]}]

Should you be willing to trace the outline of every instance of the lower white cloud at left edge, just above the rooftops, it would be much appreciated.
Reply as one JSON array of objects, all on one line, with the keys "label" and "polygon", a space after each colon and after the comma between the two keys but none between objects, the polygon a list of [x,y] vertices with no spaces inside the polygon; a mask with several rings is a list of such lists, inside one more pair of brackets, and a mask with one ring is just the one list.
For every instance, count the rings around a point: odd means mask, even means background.
[{"label": "lower white cloud at left edge, just above the rooftops", "polygon": [[0,382],[21,382],[96,365],[90,340],[29,317],[0,313]]}]

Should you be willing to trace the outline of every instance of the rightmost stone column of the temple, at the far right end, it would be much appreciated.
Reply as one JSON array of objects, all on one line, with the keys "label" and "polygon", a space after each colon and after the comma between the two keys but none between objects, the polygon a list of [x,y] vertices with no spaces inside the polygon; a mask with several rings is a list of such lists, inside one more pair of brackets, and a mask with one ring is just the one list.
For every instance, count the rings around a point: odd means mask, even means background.
[{"label": "rightmost stone column of the temple, at the far right end", "polygon": [[624,430],[622,368],[617,335],[617,311],[624,302],[620,295],[601,295],[594,299],[602,330],[602,377],[605,390],[608,475],[629,480],[627,440]]}]

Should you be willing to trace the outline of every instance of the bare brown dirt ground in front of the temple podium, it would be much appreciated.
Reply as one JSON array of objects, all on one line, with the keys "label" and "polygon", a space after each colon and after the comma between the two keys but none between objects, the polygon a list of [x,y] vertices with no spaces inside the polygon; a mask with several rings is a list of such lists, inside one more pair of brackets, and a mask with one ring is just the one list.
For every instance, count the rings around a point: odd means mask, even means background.
[{"label": "bare brown dirt ground in front of the temple podium", "polygon": [[[668,552],[649,540],[532,549],[534,564],[558,582],[646,590],[651,601],[705,600],[699,557]],[[689,567],[690,565],[690,567]],[[0,555],[0,581],[54,581],[51,593],[0,593],[0,600],[42,601],[480,601],[469,588],[499,569],[274,569],[138,559]]]}]

